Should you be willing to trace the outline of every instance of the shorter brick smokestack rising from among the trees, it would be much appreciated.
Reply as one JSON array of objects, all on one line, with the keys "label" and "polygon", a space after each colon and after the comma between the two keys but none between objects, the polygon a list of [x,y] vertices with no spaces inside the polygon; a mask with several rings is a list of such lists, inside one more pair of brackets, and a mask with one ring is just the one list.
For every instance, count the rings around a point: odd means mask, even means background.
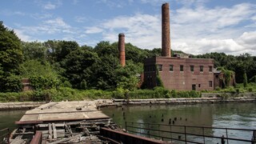
[{"label": "shorter brick smokestack rising from among the trees", "polygon": [[118,34],[118,50],[121,66],[126,66],[125,34]]}]

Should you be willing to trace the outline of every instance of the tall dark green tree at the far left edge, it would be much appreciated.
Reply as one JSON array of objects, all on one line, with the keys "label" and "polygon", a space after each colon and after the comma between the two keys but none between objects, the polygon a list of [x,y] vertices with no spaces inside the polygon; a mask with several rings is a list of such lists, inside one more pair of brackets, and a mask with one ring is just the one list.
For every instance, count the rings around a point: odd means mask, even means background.
[{"label": "tall dark green tree at the far left edge", "polygon": [[0,91],[21,90],[20,64],[23,62],[21,40],[14,33],[14,30],[6,28],[0,22]]}]

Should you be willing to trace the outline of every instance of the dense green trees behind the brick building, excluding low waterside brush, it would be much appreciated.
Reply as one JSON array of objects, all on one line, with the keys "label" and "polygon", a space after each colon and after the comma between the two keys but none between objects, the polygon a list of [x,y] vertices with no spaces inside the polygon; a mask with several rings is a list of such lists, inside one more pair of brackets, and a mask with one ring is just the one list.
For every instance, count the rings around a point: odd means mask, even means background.
[{"label": "dense green trees behind the brick building, excluding low waterside brush", "polygon": [[[160,55],[161,48],[143,50],[126,43],[126,66],[122,67],[118,59],[118,42],[102,41],[94,47],[60,40],[21,42],[14,30],[0,22],[0,90],[21,90],[21,78],[33,79],[38,89],[62,85],[81,90],[136,90],[144,59]],[[255,82],[255,56],[215,52],[193,57],[214,58],[214,67],[234,71],[238,83],[244,82],[244,78]]]}]

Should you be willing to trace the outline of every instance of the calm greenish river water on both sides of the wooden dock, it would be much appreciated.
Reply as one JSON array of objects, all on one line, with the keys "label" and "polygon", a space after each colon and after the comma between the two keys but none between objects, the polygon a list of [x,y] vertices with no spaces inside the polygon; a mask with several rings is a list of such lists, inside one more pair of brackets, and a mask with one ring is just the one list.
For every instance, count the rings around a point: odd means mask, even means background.
[{"label": "calm greenish river water on both sides of the wooden dock", "polygon": [[[173,106],[124,106],[103,108],[102,111],[113,118],[119,126],[125,128],[125,122],[150,122],[189,126],[213,126],[222,128],[240,128],[256,130],[256,103],[228,103],[228,104],[202,104],[202,105],[173,105]],[[13,130],[26,110],[0,111],[0,130],[9,127]],[[153,126],[152,126],[153,127]],[[152,128],[151,127],[151,128]],[[166,128],[169,130],[169,128]],[[194,130],[193,133],[196,133]],[[153,134],[153,132],[151,132]],[[204,134],[222,136],[225,130],[205,130]],[[173,135],[176,137],[177,135]],[[250,132],[242,133],[229,131],[229,137],[250,139]],[[194,138],[197,139],[197,138]],[[198,139],[201,141],[202,139]],[[221,143],[219,139],[207,139],[206,143]],[[178,142],[182,143],[182,142]],[[231,142],[230,143],[245,143]]]}]

